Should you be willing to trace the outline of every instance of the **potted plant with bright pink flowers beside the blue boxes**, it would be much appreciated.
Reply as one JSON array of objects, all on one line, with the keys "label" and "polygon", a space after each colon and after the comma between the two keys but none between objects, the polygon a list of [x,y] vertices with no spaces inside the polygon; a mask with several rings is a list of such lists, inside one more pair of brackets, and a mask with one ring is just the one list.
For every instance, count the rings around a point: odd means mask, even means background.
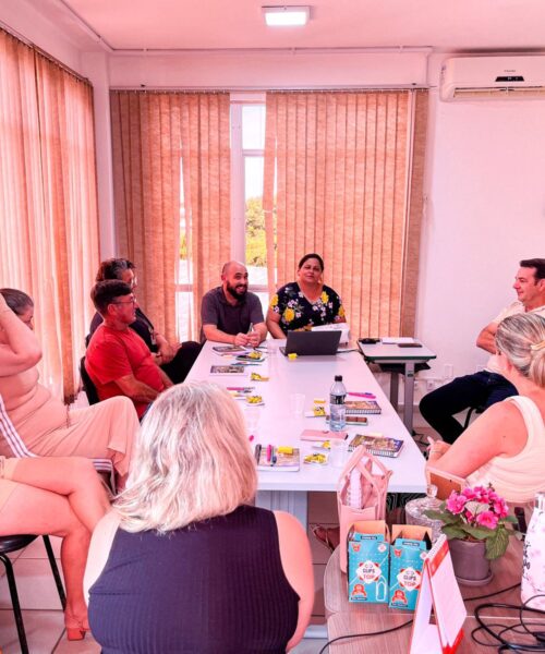
[{"label": "potted plant with bright pink flowers beside the blue boxes", "polygon": [[508,516],[507,504],[494,489],[475,486],[452,491],[438,509],[424,511],[443,522],[449,540],[455,574],[460,583],[482,584],[492,579],[489,561],[504,556],[517,522]]}]

